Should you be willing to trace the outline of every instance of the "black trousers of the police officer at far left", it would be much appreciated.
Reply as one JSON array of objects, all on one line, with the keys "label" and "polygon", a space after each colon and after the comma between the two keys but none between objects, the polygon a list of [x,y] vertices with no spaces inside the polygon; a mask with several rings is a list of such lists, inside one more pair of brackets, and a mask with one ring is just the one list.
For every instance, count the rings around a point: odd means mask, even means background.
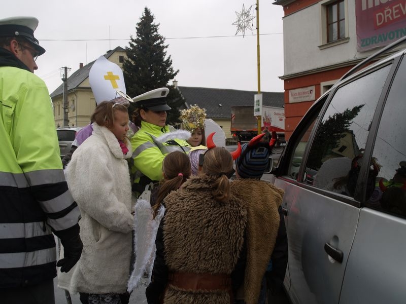
[{"label": "black trousers of the police officer at far left", "polygon": [[0,302],[7,304],[55,304],[54,280],[35,286],[0,288]]}]

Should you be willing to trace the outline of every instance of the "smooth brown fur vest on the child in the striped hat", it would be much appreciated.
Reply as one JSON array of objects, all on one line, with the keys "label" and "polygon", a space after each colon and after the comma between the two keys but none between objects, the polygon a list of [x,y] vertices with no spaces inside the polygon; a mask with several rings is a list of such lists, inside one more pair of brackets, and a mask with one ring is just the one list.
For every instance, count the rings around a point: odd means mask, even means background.
[{"label": "smooth brown fur vest on the child in the striped hat", "polygon": [[274,251],[280,219],[278,207],[284,192],[269,182],[248,178],[232,181],[231,193],[243,199],[248,211],[244,299],[247,304],[256,304],[262,277]]}]

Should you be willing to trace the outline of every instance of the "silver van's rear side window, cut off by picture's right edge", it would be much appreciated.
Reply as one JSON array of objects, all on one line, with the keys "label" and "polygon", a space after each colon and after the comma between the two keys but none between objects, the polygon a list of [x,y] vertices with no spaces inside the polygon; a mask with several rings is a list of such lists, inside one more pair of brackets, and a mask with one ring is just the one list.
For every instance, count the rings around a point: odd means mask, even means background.
[{"label": "silver van's rear side window, cut off by picture's right edge", "polygon": [[374,193],[366,206],[406,216],[406,99],[403,58],[382,113],[373,158],[379,167]]}]

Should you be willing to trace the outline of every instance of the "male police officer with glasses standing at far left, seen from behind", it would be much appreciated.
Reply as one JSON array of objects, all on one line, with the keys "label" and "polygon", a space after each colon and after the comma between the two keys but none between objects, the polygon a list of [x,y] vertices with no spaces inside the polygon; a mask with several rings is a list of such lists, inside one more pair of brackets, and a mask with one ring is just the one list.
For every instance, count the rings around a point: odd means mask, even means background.
[{"label": "male police officer with glasses standing at far left, seen from behind", "polygon": [[[80,212],[62,171],[52,104],[33,74],[38,19],[0,20],[0,301],[54,303],[56,265],[79,260]],[[65,248],[56,263],[55,239]]]}]

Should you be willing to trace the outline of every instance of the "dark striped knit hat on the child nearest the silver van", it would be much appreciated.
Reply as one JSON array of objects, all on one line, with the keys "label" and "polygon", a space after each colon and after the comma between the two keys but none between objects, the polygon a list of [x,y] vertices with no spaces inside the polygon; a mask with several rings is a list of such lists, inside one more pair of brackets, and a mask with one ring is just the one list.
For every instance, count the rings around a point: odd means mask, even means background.
[{"label": "dark striped knit hat on the child nearest the silver van", "polygon": [[261,178],[267,169],[268,162],[269,151],[266,146],[249,148],[248,143],[245,143],[241,156],[235,160],[235,169],[241,178]]}]

